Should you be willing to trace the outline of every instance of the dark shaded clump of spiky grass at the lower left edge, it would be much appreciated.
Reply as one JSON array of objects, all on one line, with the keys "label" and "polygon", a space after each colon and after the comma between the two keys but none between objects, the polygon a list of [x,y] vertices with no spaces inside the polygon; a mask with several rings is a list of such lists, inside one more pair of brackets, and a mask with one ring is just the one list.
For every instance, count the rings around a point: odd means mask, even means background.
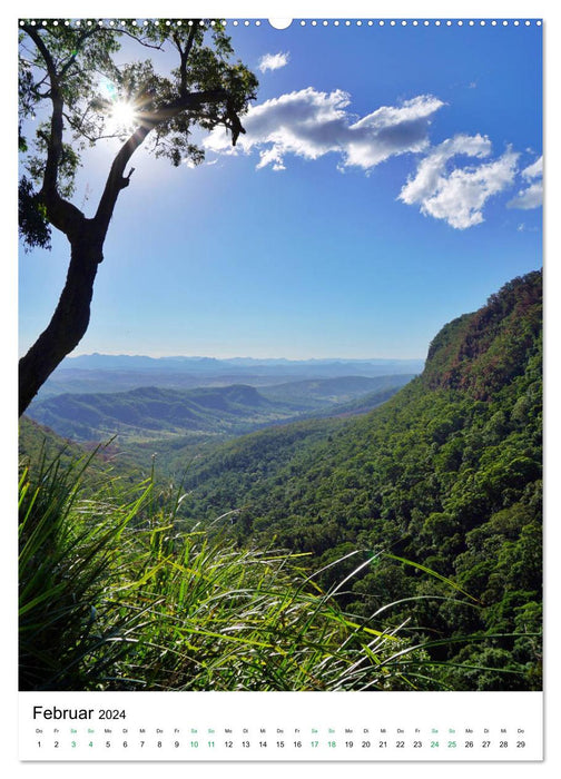
[{"label": "dark shaded clump of spiky grass at the lower left edge", "polygon": [[[137,621],[115,613],[105,633],[96,607],[115,565],[120,536],[135,512],[121,506],[107,521],[101,500],[88,522],[76,522],[83,506],[78,485],[90,457],[61,464],[40,458],[26,467],[19,500],[20,689],[95,689],[97,679],[122,654],[116,641]],[[104,651],[100,652],[100,648]]]}]

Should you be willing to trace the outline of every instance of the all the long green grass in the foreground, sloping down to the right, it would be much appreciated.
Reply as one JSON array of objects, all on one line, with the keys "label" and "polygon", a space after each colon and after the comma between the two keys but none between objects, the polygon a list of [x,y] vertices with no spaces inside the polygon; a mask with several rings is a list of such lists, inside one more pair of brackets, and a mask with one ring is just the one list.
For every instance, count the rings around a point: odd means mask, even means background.
[{"label": "all the long green grass in the foreground, sloping down to the right", "polygon": [[227,521],[186,532],[179,491],[91,483],[94,457],[21,472],[20,689],[411,689],[425,674],[422,650],[405,674],[398,629],[344,613],[303,555],[238,549]]}]

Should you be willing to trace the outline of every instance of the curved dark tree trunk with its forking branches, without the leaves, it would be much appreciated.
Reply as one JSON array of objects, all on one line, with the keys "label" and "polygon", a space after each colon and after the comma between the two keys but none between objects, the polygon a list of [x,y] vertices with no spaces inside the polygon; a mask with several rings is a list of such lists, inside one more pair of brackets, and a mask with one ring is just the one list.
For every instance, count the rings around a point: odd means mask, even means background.
[{"label": "curved dark tree trunk with its forking branches, without the leaves", "polygon": [[[69,239],[71,257],[65,288],[51,321],[47,329],[41,333],[19,362],[20,416],[37,395],[41,385],[67,354],[76,348],[88,329],[94,280],[97,267],[104,259],[104,240],[119,194],[129,186],[134,168],[127,176],[125,176],[125,168],[136,149],[144,142],[149,132],[161,122],[169,122],[183,112],[196,114],[206,106],[224,106],[225,114],[222,116],[218,112],[215,124],[222,124],[230,130],[234,146],[239,134],[245,132],[234,107],[234,100],[224,87],[195,92],[187,91],[187,59],[195,41],[195,33],[189,34],[185,48],[178,46],[176,40],[181,57],[179,93],[175,99],[157,108],[148,109],[145,107],[145,109],[139,110],[139,125],[121,146],[112,161],[96,215],[92,219],[86,219],[81,210],[62,198],[58,191],[60,165],[63,156],[65,76],[73,62],[77,50],[73,51],[72,58],[68,59],[66,65],[60,66],[57,63],[58,55],[53,57],[35,26],[23,24],[22,29],[30,36],[45,60],[50,83],[49,96],[52,101],[51,129],[47,142],[47,159],[39,195],[47,209],[48,221]],[[78,41],[78,48],[91,34],[92,31],[85,32]],[[190,122],[190,118],[188,121]],[[206,127],[206,125],[204,126]]]}]

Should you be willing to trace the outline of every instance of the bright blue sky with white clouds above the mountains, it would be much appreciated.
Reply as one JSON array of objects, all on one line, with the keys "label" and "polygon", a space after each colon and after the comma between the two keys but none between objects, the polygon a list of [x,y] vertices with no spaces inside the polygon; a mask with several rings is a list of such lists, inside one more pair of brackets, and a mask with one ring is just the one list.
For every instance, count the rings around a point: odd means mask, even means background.
[{"label": "bright blue sky with white clouds above the mountains", "polygon": [[[137,152],[76,354],[424,357],[541,266],[535,22],[229,30],[260,82],[247,135],[201,135],[197,168]],[[112,151],[85,158],[87,213]],[[20,352],[67,262],[65,238],[21,253]]]}]

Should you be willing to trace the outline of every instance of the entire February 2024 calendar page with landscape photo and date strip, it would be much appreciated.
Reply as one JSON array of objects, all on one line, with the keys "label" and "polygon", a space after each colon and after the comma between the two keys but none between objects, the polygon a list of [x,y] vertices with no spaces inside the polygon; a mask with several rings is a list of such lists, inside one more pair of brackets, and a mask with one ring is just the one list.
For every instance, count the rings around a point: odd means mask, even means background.
[{"label": "entire February 2024 calendar page with landscape photo and date strip", "polygon": [[20,766],[543,760],[543,22],[341,10],[13,23]]}]

